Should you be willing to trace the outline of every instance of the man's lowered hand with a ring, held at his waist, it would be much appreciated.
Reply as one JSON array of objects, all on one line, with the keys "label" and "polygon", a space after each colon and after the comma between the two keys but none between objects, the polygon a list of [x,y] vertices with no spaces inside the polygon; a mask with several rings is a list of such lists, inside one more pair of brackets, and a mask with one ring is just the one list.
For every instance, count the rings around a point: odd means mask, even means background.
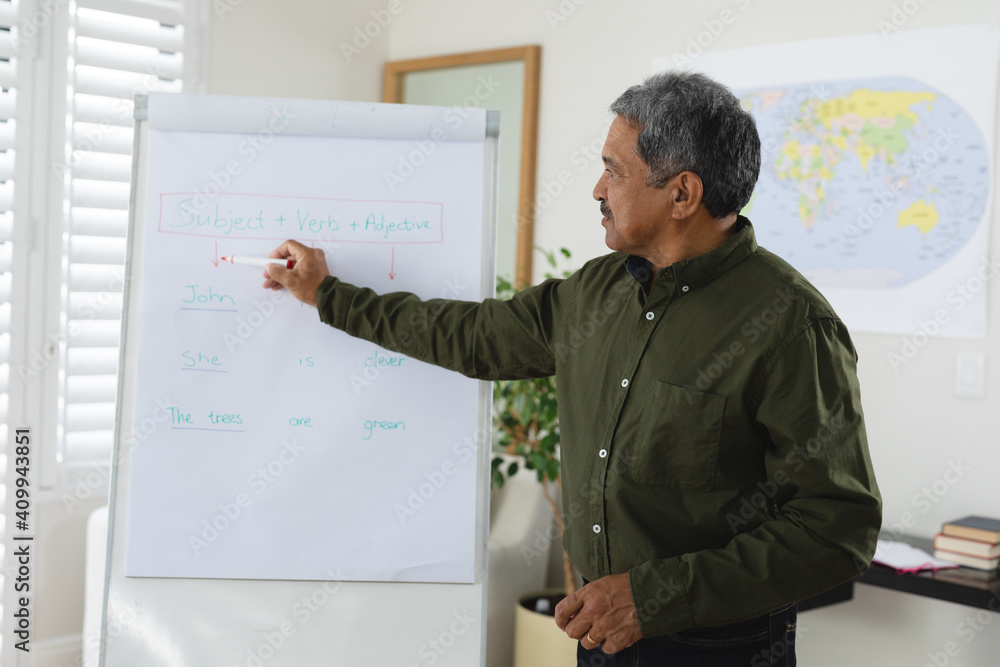
[{"label": "man's lowered hand with a ring, held at his waist", "polygon": [[583,648],[617,653],[642,639],[628,573],[592,581],[556,605],[556,625]]}]

